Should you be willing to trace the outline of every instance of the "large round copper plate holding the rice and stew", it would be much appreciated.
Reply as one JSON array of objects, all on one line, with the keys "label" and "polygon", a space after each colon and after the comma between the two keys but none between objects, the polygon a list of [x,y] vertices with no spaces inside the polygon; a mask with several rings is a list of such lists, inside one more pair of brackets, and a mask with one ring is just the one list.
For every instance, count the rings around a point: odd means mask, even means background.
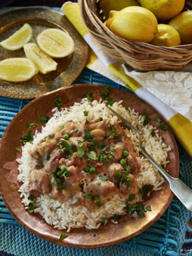
[{"label": "large round copper plate holding the rice and stew", "polygon": [[[29,214],[25,210],[17,191],[17,166],[14,160],[16,154],[18,157],[15,147],[19,146],[19,140],[22,135],[28,132],[28,123],[36,122],[38,117],[49,113],[54,108],[53,100],[55,98],[62,98],[63,106],[70,106],[74,102],[79,102],[90,91],[93,92],[94,98],[98,98],[103,90],[99,85],[77,84],[58,89],[34,99],[14,117],[2,137],[0,149],[0,191],[6,206],[15,219],[28,230],[43,239],[63,246],[97,248],[129,240],[155,223],[173,199],[173,194],[169,189],[168,183],[165,181],[162,189],[152,193],[151,197],[144,202],[144,204],[151,205],[152,207],[152,211],[147,212],[145,218],[139,219],[136,214],[133,214],[130,218],[122,218],[126,219],[126,221],[123,222],[121,219],[116,225],[109,221],[106,226],[101,226],[99,229],[74,228],[70,231],[69,237],[62,242],[59,242],[58,239],[63,231],[54,229],[46,224],[39,214]],[[135,95],[114,88],[110,92],[110,95],[116,101],[123,100],[124,105],[129,105],[135,111],[151,112],[151,120],[154,120],[156,116],[163,120],[152,106]],[[153,124],[153,122],[151,123]],[[174,136],[172,132],[160,133],[163,141],[172,147],[172,150],[168,152],[170,163],[166,168],[169,170],[170,175],[178,177],[179,154]],[[96,237],[94,234],[96,234]]]}]

